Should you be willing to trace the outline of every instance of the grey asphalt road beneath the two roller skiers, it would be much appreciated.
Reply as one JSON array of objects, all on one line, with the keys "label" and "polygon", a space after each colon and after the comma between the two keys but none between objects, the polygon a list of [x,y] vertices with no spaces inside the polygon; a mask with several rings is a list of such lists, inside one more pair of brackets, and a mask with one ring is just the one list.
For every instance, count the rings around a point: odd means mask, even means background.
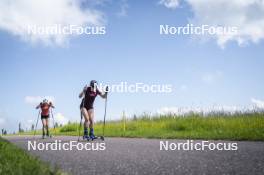
[{"label": "grey asphalt road beneath the two roller skiers", "polygon": [[[39,139],[31,136],[5,137],[28,149],[28,141],[62,143],[77,137],[60,136]],[[96,144],[102,141],[94,141]],[[169,140],[170,143],[186,140]],[[195,141],[200,142],[200,141]],[[212,141],[214,143],[234,141]],[[85,144],[87,142],[80,142]],[[160,150],[160,140],[106,138],[105,150],[29,151],[40,159],[58,166],[70,174],[264,174],[264,142],[236,142],[237,151],[183,151]]]}]

